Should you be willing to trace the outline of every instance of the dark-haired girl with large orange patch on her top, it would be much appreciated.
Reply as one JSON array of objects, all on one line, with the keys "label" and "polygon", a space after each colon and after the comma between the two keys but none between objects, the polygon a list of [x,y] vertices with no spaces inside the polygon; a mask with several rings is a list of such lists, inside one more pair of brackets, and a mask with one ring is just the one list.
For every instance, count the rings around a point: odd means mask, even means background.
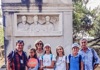
[{"label": "dark-haired girl with large orange patch on her top", "polygon": [[30,54],[27,62],[28,70],[38,70],[39,60],[34,48],[30,49]]}]

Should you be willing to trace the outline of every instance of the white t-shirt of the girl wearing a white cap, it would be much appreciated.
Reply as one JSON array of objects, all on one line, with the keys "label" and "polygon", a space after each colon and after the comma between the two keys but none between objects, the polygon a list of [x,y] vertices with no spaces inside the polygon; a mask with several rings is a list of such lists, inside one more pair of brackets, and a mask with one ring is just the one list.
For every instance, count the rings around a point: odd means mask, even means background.
[{"label": "white t-shirt of the girl wearing a white cap", "polygon": [[[52,61],[56,61],[56,58],[53,54],[44,54],[43,56],[40,57],[40,60],[43,60],[43,66],[50,66]],[[54,69],[46,68],[44,70],[54,70]]]}]

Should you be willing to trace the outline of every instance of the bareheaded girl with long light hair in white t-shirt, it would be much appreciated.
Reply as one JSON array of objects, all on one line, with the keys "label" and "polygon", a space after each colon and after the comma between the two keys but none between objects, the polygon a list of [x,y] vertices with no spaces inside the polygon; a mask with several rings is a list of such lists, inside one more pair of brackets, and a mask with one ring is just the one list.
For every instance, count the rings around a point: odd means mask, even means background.
[{"label": "bareheaded girl with long light hair in white t-shirt", "polygon": [[55,65],[55,70],[66,70],[67,66],[67,59],[66,56],[64,55],[64,49],[62,46],[58,46],[56,48],[56,65]]}]

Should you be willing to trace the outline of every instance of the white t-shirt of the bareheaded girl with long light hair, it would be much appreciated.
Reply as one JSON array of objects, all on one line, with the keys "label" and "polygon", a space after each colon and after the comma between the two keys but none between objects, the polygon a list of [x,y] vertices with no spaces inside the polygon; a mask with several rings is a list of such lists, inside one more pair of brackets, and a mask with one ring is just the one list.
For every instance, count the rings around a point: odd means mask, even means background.
[{"label": "white t-shirt of the bareheaded girl with long light hair", "polygon": [[66,70],[66,56],[58,57],[55,70]]}]

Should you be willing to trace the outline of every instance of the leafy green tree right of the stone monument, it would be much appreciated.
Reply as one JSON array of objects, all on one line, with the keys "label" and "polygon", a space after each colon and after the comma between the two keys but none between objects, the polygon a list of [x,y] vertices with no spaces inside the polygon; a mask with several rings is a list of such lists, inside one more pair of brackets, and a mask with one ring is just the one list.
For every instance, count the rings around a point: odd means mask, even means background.
[{"label": "leafy green tree right of the stone monument", "polygon": [[73,40],[76,40],[78,33],[87,33],[95,37],[89,41],[91,46],[100,46],[100,7],[89,10],[86,7],[88,2],[89,0],[73,0]]}]

